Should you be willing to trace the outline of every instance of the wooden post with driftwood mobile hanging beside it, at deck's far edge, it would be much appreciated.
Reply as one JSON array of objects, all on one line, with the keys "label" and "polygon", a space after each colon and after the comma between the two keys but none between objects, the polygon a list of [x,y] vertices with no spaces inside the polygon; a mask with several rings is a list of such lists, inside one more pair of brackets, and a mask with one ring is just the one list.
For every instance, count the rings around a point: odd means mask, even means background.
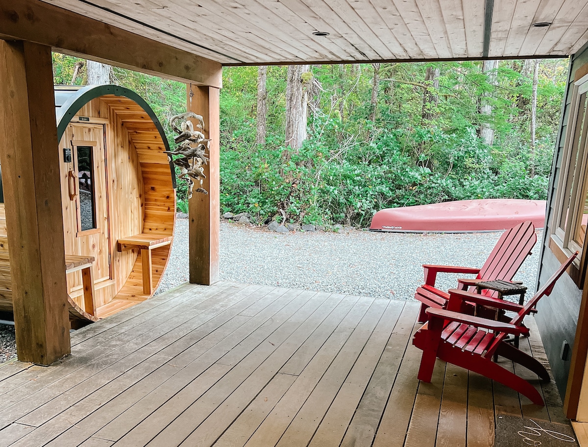
[{"label": "wooden post with driftwood mobile hanging beside it, at deck's far edge", "polygon": [[[219,101],[218,88],[188,85],[188,111],[202,115],[204,134],[212,140],[203,184],[208,195],[195,192],[189,201],[190,282],[193,284],[211,285],[219,279]],[[198,187],[196,184],[194,189]]]}]

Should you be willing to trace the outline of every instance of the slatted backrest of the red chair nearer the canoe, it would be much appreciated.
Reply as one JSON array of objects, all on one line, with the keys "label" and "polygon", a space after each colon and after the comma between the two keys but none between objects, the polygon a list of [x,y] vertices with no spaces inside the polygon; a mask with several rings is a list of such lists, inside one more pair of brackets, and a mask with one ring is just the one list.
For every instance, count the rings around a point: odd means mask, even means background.
[{"label": "slatted backrest of the red chair nearer the canoe", "polygon": [[[510,281],[523,261],[531,254],[535,242],[537,242],[537,235],[531,221],[519,223],[509,231],[505,231],[476,278],[485,281],[495,279]],[[483,291],[483,294],[497,295],[496,292],[489,290]]]}]

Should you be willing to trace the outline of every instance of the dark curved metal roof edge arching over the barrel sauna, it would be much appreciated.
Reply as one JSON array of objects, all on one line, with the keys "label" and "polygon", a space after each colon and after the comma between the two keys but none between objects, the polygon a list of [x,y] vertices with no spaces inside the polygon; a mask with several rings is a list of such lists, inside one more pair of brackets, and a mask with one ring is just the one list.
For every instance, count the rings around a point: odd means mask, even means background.
[{"label": "dark curved metal roof edge arching over the barrel sauna", "polygon": [[[64,102],[57,112],[58,141],[61,141],[61,137],[64,135],[65,129],[67,128],[72,118],[74,118],[74,116],[79,112],[79,109],[81,109],[88,102],[92,101],[92,99],[99,98],[100,96],[104,95],[123,96],[124,98],[129,98],[131,101],[136,102],[136,104],[138,104],[145,112],[147,112],[149,118],[151,118],[151,121],[153,121],[153,124],[155,124],[155,128],[158,130],[159,135],[161,135],[165,150],[171,150],[169,148],[168,138],[165,136],[161,122],[159,122],[155,112],[153,112],[153,109],[151,106],[149,106],[149,104],[147,104],[145,99],[143,99],[136,92],[133,92],[131,89],[112,84],[85,86],[72,94],[72,96]],[[176,170],[172,161],[169,162],[169,170],[172,174],[173,189],[176,189]]]}]

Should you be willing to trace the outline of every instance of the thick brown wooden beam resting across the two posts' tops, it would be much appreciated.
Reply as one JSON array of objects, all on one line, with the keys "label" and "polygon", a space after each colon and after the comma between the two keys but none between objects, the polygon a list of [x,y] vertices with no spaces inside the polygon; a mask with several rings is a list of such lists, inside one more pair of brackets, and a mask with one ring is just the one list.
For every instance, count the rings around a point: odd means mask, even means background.
[{"label": "thick brown wooden beam resting across the two posts' tops", "polygon": [[0,0],[0,38],[176,81],[222,86],[219,62],[38,0]]}]

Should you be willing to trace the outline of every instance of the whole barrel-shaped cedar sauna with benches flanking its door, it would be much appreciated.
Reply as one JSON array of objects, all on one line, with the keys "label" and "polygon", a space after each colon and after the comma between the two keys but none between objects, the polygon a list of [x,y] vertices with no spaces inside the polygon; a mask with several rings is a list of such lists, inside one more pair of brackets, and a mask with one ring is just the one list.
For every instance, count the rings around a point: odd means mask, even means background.
[{"label": "whole barrel-shaped cedar sauna with benches flanking its door", "polygon": [[[162,126],[135,92],[55,86],[55,104],[69,316],[79,327],[153,295],[171,250],[175,174]],[[0,311],[12,312],[1,182]]]}]

